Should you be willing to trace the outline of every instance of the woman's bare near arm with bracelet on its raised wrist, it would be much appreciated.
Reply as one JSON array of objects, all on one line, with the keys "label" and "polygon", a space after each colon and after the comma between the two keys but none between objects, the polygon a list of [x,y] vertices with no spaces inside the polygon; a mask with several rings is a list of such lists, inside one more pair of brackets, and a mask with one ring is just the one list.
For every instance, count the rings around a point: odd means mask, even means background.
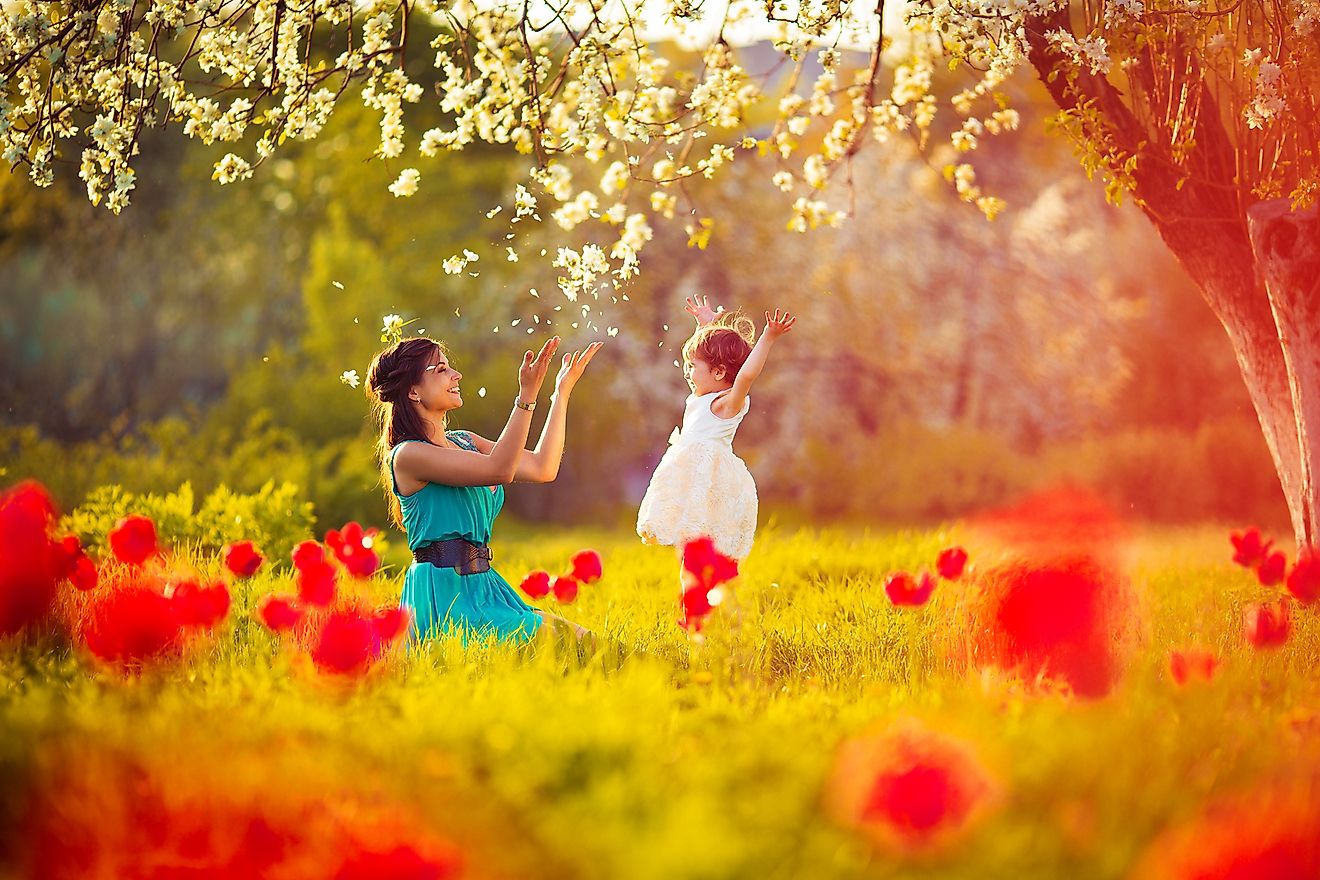
[{"label": "woman's bare near arm with bracelet on its raised wrist", "polygon": [[[554,356],[560,338],[552,336],[535,356],[531,351],[523,355],[523,364],[517,371],[517,398],[520,402],[536,401],[536,394],[549,371],[550,358]],[[429,443],[407,443],[395,454],[395,478],[405,476],[444,486],[511,483],[517,472],[519,459],[527,446],[527,435],[531,429],[532,412],[523,406],[515,406],[499,439],[491,443],[486,451],[471,453]]]}]

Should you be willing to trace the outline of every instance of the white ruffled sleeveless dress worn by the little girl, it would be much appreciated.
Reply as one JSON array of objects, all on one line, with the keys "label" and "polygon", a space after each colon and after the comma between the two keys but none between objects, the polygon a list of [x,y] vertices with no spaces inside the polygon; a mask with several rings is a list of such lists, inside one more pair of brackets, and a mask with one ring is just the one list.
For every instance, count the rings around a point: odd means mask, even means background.
[{"label": "white ruffled sleeveless dress worn by the little girl", "polygon": [[643,544],[678,546],[705,534],[735,559],[751,553],[756,483],[733,446],[751,398],[733,418],[719,418],[710,405],[722,393],[688,396],[682,427],[669,437],[669,449],[651,475],[638,511]]}]

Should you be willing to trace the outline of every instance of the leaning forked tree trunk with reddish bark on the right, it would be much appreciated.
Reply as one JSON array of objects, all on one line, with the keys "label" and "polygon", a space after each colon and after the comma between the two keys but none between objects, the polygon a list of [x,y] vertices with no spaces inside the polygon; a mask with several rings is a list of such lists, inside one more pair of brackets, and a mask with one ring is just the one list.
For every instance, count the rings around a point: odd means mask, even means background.
[{"label": "leaning forked tree trunk with reddish bark on the right", "polygon": [[[1067,11],[1032,21],[1028,58],[1060,110],[1094,102],[1104,120],[1104,131],[1096,133],[1119,157],[1137,157],[1134,195],[1224,326],[1274,459],[1294,536],[1299,546],[1309,545],[1316,537],[1313,472],[1320,464],[1320,303],[1308,297],[1316,294],[1320,276],[1320,223],[1313,211],[1309,219],[1290,215],[1284,201],[1258,206],[1259,218],[1251,214],[1249,232],[1234,146],[1195,58],[1185,59],[1179,75],[1197,90],[1196,146],[1179,164],[1159,123],[1147,127],[1126,103],[1151,94],[1154,78],[1146,69],[1151,58],[1134,67],[1127,96],[1085,70],[1069,80],[1061,74],[1068,59],[1044,38],[1055,28],[1071,29]],[[1158,119],[1155,112],[1144,116]]]}]

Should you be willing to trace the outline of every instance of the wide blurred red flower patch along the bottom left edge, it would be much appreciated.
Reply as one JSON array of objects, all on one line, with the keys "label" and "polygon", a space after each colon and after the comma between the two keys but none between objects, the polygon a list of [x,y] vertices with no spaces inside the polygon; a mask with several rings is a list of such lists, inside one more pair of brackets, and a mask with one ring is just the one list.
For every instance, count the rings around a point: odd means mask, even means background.
[{"label": "wide blurred red flower patch along the bottom left edge", "polygon": [[[226,769],[168,770],[83,745],[37,778],[13,844],[40,880],[284,877],[453,880],[463,855],[405,803],[318,781],[256,788],[282,769],[226,756]],[[199,760],[206,760],[199,756]],[[228,769],[232,773],[232,769]],[[306,772],[300,770],[300,782]],[[273,781],[273,780],[272,780]]]}]

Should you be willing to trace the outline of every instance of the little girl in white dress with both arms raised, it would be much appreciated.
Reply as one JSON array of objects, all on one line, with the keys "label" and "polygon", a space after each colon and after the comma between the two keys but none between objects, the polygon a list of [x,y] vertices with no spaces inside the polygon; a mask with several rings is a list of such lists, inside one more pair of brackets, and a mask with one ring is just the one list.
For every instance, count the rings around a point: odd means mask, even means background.
[{"label": "little girl in white dress with both arms raised", "polygon": [[737,314],[717,314],[706,297],[689,297],[697,331],[682,347],[682,375],[692,394],[682,427],[669,438],[638,511],[643,544],[681,548],[709,536],[725,555],[744,559],[756,533],[756,484],[734,455],[738,425],[751,405],[747,393],[766,365],[775,340],[797,321],[787,311],[766,313],[766,329],[752,346],[755,325]]}]

